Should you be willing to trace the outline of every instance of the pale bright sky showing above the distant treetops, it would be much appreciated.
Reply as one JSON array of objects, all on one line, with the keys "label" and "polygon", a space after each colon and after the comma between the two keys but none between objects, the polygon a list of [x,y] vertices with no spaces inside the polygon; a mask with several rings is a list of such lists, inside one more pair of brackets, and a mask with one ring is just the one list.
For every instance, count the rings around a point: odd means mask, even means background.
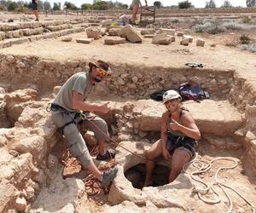
[{"label": "pale bright sky showing above the distant treetops", "polygon": [[[65,1],[66,0],[49,0],[51,4],[53,4],[54,2],[59,2],[62,5],[63,3],[65,3]],[[141,0],[141,1],[143,3],[144,0]],[[148,0],[148,4],[152,5],[154,1],[155,0]],[[180,1],[182,0],[160,0],[160,2],[164,4],[164,6],[177,5],[177,3]],[[69,2],[75,3],[78,7],[80,7],[82,3],[92,3],[93,0],[76,0],[76,1],[69,0]],[[128,5],[130,5],[132,0],[129,0],[129,1],[119,0],[119,2],[127,3]],[[190,0],[190,2],[192,2],[196,8],[204,8],[207,0]],[[215,0],[215,3],[217,4],[217,7],[220,7],[224,3],[224,0]],[[246,6],[246,0],[230,0],[230,3],[233,6],[242,6],[242,7]]]}]

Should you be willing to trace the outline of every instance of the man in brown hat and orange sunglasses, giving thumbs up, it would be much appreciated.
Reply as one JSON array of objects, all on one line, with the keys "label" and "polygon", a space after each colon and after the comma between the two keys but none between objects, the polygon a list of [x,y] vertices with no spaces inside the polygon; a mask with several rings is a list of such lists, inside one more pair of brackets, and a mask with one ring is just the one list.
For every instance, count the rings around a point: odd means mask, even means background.
[{"label": "man in brown hat and orange sunglasses, giving thumbs up", "polygon": [[[98,106],[85,102],[92,87],[111,74],[110,68],[108,67],[108,63],[102,60],[97,60],[95,63],[90,62],[89,68],[89,72],[78,72],[64,83],[56,95],[55,101],[51,104],[51,112],[55,125],[67,140],[68,150],[72,156],[78,158],[83,169],[90,170],[101,181],[102,187],[108,187],[109,183],[113,181],[113,178],[117,174],[117,167],[104,173],[98,170],[77,127],[77,124],[83,122],[86,127],[94,131],[99,145],[99,153],[96,159],[108,160],[113,158],[114,151],[105,149],[105,141],[108,140],[106,136],[108,135],[108,125],[102,118],[92,113],[107,113],[109,111],[108,103]],[[81,111],[84,112],[90,122],[87,119],[83,120],[81,118]],[[101,131],[96,129],[91,122]]]}]

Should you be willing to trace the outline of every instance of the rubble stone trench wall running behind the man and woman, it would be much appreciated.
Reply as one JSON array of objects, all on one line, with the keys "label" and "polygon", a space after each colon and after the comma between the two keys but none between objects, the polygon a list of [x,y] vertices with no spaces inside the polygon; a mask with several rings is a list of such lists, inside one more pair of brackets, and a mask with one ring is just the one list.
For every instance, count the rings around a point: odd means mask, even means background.
[{"label": "rubble stone trench wall running behind the man and woman", "polygon": [[[56,85],[65,83],[73,73],[85,71],[87,62],[86,60],[56,61],[41,59],[37,56],[0,55],[0,76],[2,83],[17,83],[10,87],[34,84],[38,91],[50,91]],[[201,83],[213,99],[220,100],[226,99],[230,93],[234,75],[234,71],[207,69],[132,66],[128,64],[111,66],[113,76],[97,86],[97,95],[110,94],[125,98],[147,99],[154,91],[177,89],[180,83],[194,81]]]}]

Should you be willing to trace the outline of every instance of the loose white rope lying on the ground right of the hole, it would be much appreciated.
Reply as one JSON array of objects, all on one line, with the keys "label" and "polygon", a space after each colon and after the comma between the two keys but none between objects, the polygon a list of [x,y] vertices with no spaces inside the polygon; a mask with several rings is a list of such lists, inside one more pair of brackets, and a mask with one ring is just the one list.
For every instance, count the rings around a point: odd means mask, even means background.
[{"label": "loose white rope lying on the ground right of the hole", "polygon": [[[218,168],[218,170],[216,171],[215,175],[214,175],[214,181],[212,181],[211,186],[209,186],[205,181],[202,181],[200,179],[195,178],[195,176],[198,176],[202,173],[207,172],[208,170],[211,170],[212,168],[212,163],[216,162],[218,160],[227,160],[227,161],[231,161],[234,164],[230,165],[230,166],[221,166]],[[194,181],[200,182],[202,185],[204,185],[205,187],[193,187],[193,191],[195,193],[197,193],[198,198],[201,199],[203,202],[207,203],[207,204],[218,204],[220,203],[223,198],[221,197],[221,195],[216,191],[216,189],[214,188],[214,186],[219,187],[225,194],[225,196],[227,197],[227,199],[229,200],[229,204],[230,204],[230,208],[227,212],[232,212],[233,210],[233,201],[230,198],[229,193],[227,193],[225,188],[229,188],[230,190],[232,190],[233,192],[235,192],[236,194],[238,194],[241,199],[243,199],[250,207],[253,213],[255,213],[255,207],[253,206],[253,204],[251,202],[249,202],[243,195],[241,195],[241,193],[239,193],[235,188],[227,186],[226,184],[224,184],[223,182],[218,181],[218,172],[220,170],[231,170],[236,168],[238,162],[236,161],[235,158],[213,158],[212,160],[205,160],[205,159],[194,159],[192,161],[190,161],[187,164],[184,164],[183,166],[183,172],[184,173],[188,173],[186,172],[186,168],[188,168],[189,164],[192,164],[197,170],[192,171],[189,175],[191,176],[191,178]],[[207,193],[209,193],[210,189],[212,190],[213,193],[215,193],[217,195],[217,199],[206,199],[203,196],[206,195]]]}]

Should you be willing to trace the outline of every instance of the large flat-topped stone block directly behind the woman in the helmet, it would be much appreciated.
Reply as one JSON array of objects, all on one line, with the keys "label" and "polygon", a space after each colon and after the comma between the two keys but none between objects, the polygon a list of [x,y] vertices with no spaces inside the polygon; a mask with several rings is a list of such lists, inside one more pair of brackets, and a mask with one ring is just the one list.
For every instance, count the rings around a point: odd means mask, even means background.
[{"label": "large flat-topped stone block directly behind the woman in the helmet", "polygon": [[[159,131],[161,115],[166,111],[166,107],[157,101],[139,102],[141,106],[134,109],[141,110],[142,120],[139,129]],[[202,134],[232,135],[236,130],[241,129],[243,124],[241,114],[228,101],[205,100],[201,103],[186,101],[183,106],[189,109]]]}]

